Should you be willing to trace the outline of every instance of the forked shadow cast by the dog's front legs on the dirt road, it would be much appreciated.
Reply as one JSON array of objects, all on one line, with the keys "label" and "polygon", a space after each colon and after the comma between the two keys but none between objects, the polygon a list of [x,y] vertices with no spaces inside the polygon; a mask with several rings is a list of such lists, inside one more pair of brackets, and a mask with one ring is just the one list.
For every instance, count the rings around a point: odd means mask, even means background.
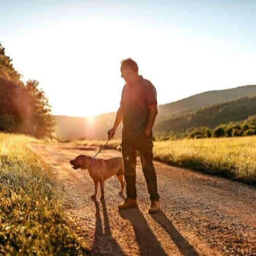
[{"label": "forked shadow cast by the dog's front legs on the dirt road", "polygon": [[104,232],[102,228],[102,221],[100,218],[99,203],[93,200],[96,209],[96,223],[94,232],[94,241],[92,246],[92,253],[94,254],[108,254],[108,255],[125,255],[118,245],[116,240],[112,237],[110,223],[108,218],[108,211],[106,209],[105,200],[100,200],[102,204]]}]

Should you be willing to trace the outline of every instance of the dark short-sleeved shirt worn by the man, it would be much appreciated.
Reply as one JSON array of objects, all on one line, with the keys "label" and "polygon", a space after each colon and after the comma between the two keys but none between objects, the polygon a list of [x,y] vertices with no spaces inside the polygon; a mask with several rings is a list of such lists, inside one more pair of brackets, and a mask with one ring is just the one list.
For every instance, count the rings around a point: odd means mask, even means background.
[{"label": "dark short-sleeved shirt worn by the man", "polygon": [[120,102],[123,112],[122,139],[144,133],[148,105],[153,104],[157,104],[157,91],[150,81],[139,76],[136,82],[124,85]]}]

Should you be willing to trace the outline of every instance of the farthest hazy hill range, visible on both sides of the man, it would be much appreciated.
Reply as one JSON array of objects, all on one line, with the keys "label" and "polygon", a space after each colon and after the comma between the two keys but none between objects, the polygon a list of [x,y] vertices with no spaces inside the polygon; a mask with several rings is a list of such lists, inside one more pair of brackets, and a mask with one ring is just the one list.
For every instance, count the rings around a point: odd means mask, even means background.
[{"label": "farthest hazy hill range, visible on both sides of the man", "polygon": [[[159,105],[156,127],[159,127],[160,131],[169,131],[168,119],[170,118],[182,116],[179,117],[182,120],[184,114],[197,111],[212,104],[222,103],[251,94],[256,94],[256,85],[204,92],[179,101]],[[105,139],[106,132],[112,127],[115,121],[115,115],[115,112],[97,115],[93,121],[82,117],[55,116],[57,121],[56,135],[64,139],[78,139],[81,137]],[[170,120],[178,122],[177,127],[179,127],[179,118]],[[164,120],[166,122],[160,124]],[[116,137],[120,137],[120,130],[121,127],[117,131]]]}]

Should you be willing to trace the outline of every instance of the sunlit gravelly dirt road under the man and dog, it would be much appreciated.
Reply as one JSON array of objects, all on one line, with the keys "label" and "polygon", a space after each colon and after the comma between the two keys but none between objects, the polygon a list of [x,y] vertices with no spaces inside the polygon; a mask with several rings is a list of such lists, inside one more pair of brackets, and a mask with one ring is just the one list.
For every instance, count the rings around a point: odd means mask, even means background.
[{"label": "sunlit gravelly dirt road under the man and dog", "polygon": [[[70,227],[92,255],[256,255],[256,187],[155,162],[162,212],[147,213],[150,200],[137,161],[139,209],[118,211],[116,177],[105,182],[105,200],[91,200],[94,184],[69,160],[94,156],[75,144],[31,144],[56,170]],[[106,150],[98,157],[121,156]]]}]

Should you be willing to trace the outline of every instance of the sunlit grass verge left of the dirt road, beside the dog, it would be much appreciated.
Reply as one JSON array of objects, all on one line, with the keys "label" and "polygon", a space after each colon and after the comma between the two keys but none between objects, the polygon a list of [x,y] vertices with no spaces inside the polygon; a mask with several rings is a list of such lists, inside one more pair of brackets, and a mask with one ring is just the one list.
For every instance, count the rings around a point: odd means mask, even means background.
[{"label": "sunlit grass verge left of the dirt road, beside the dog", "polygon": [[49,166],[25,145],[36,140],[0,133],[0,254],[82,254],[61,215]]}]

